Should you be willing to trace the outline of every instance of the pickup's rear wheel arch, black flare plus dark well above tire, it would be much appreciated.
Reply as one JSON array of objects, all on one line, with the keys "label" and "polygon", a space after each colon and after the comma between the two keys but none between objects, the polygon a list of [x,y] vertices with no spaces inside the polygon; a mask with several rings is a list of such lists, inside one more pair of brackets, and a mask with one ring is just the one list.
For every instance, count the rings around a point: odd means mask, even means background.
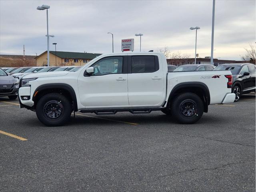
[{"label": "pickup's rear wheel arch, black flare plus dark well above tire", "polygon": [[192,92],[198,95],[204,103],[204,112],[208,112],[208,105],[210,104],[210,92],[206,84],[202,82],[184,82],[179,83],[170,92],[167,107],[170,106],[172,98],[177,94],[184,92]]}]

